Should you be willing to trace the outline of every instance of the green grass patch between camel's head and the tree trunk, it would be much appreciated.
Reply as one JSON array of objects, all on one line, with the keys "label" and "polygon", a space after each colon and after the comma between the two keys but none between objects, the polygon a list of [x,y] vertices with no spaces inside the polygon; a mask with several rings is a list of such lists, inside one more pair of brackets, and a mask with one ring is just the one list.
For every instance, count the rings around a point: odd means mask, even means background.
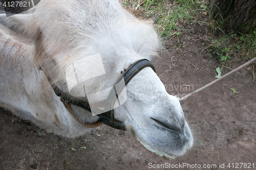
[{"label": "green grass patch between camel's head and the tree trunk", "polygon": [[205,3],[193,0],[126,0],[125,5],[143,12],[144,19],[153,19],[159,36],[167,40],[180,35],[182,24],[192,24],[199,10],[205,10]]}]

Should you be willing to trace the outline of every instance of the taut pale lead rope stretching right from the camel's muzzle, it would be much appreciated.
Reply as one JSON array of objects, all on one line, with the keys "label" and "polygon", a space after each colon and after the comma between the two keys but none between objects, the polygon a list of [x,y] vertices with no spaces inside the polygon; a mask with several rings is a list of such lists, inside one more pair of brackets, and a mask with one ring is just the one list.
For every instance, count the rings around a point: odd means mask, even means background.
[{"label": "taut pale lead rope stretching right from the camel's muzzle", "polygon": [[205,89],[206,87],[209,87],[210,85],[212,85],[212,84],[214,84],[214,83],[216,83],[216,82],[218,82],[218,81],[224,79],[225,77],[227,77],[227,76],[233,74],[234,72],[240,70],[240,69],[243,68],[244,66],[247,66],[247,65],[251,64],[253,61],[256,61],[256,57],[253,58],[253,59],[251,59],[250,61],[244,63],[244,64],[241,65],[240,67],[238,67],[238,68],[236,68],[236,69],[234,69],[234,70],[228,72],[228,74],[226,74],[226,75],[220,77],[219,79],[217,79],[217,80],[215,80],[215,81],[213,81],[213,82],[210,82],[209,84],[206,84],[205,86],[201,87],[200,89],[198,89],[198,90],[196,90],[196,91],[193,91],[193,92],[191,92],[191,93],[185,95],[183,98],[179,99],[179,101],[186,100],[189,96],[191,96],[191,95],[193,95],[193,94],[195,94],[195,93],[197,93],[197,92],[199,92],[199,91]]}]

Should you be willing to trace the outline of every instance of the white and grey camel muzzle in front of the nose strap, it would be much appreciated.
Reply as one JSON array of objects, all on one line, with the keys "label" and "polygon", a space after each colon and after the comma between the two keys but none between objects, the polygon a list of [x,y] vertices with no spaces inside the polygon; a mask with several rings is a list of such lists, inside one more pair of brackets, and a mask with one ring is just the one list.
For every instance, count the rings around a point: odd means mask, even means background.
[{"label": "white and grey camel muzzle in front of the nose strap", "polygon": [[179,100],[165,91],[151,68],[136,75],[126,90],[127,101],[116,109],[116,118],[125,121],[145,148],[172,159],[192,147]]}]

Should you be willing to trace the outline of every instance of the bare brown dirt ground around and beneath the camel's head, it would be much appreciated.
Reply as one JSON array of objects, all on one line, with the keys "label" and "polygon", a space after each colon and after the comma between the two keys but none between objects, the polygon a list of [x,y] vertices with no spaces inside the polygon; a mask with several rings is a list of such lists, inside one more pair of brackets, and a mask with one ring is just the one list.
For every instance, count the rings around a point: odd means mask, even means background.
[{"label": "bare brown dirt ground around and beneath the camel's head", "polygon": [[[167,92],[183,96],[216,80],[219,66],[204,50],[208,28],[185,28],[152,61]],[[230,68],[244,62],[233,62]],[[224,68],[224,74],[230,68]],[[70,139],[47,133],[2,109],[0,169],[152,169],[158,164],[168,168],[155,169],[256,169],[256,81],[246,68],[181,102],[195,142],[175,160],[146,150],[125,131],[103,125]]]}]

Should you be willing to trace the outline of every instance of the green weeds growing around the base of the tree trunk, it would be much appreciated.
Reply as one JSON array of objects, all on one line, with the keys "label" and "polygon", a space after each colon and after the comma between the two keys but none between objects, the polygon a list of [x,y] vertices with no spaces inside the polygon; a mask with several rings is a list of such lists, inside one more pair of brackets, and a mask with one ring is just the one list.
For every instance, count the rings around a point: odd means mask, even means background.
[{"label": "green weeds growing around the base of the tree trunk", "polygon": [[[211,13],[210,10],[209,13]],[[221,19],[215,20],[216,18]],[[211,36],[206,41],[208,42],[206,49],[216,56],[221,66],[234,61],[234,58],[252,59],[256,57],[256,30],[249,34],[240,32],[225,34],[222,31],[223,24],[224,19],[220,13],[211,16],[209,22]]]}]

